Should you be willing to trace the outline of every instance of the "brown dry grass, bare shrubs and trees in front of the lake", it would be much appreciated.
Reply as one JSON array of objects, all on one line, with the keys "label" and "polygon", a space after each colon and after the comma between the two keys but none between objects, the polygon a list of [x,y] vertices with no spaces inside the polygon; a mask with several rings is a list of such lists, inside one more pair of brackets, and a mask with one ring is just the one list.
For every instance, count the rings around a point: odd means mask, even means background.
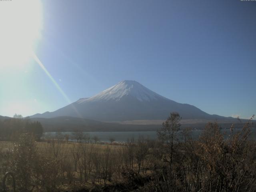
[{"label": "brown dry grass, bare shrubs and trees in front of the lake", "polygon": [[[77,143],[56,134],[36,142],[25,133],[18,142],[0,143],[0,176],[15,174],[18,191],[163,191],[252,192],[256,190],[256,141],[249,121],[224,138],[208,123],[199,140],[191,130],[178,135],[180,116],[172,113],[158,140],[139,138],[124,145]],[[7,184],[9,184],[10,181]],[[10,183],[11,184],[11,183]]]}]

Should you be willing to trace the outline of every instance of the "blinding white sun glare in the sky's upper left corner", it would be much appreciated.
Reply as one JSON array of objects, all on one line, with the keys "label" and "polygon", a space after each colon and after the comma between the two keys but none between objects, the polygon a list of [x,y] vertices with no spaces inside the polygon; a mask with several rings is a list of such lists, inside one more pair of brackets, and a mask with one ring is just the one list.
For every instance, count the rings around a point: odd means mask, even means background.
[{"label": "blinding white sun glare in the sky's upper left corner", "polygon": [[3,1],[0,6],[0,67],[28,63],[42,30],[40,0]]}]

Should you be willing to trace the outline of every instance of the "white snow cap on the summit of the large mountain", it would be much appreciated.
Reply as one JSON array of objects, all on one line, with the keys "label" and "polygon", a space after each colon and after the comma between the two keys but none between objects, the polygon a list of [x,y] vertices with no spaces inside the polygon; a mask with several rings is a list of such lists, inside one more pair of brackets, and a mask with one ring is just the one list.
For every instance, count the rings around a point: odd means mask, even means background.
[{"label": "white snow cap on the summit of the large mountain", "polygon": [[132,96],[139,101],[151,101],[164,98],[159,94],[149,90],[142,84],[133,80],[123,80],[118,84],[100,92],[99,94],[90,98],[84,98],[78,100],[78,103],[87,101],[109,101],[109,100],[120,100],[124,96]]}]

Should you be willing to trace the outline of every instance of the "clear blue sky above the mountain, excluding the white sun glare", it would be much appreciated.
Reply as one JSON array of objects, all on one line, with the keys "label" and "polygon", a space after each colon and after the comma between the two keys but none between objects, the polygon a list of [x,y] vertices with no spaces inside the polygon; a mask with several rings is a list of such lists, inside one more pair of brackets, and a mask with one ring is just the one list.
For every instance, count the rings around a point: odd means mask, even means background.
[{"label": "clear blue sky above the mountain, excluding the white sun glare", "polygon": [[209,114],[255,114],[256,2],[44,0],[41,6],[34,52],[58,85],[33,58],[4,66],[0,115],[54,111],[121,80]]}]

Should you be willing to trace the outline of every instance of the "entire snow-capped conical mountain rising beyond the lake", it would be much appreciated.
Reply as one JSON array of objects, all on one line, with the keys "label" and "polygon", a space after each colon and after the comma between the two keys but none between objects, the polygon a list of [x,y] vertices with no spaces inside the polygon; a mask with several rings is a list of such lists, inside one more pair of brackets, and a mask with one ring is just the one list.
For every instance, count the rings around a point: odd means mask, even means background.
[{"label": "entire snow-capped conical mountain rising beyond the lake", "polygon": [[124,80],[92,96],[81,98],[54,112],[35,114],[31,118],[70,116],[104,122],[127,120],[164,120],[170,112],[178,112],[182,119],[225,119],[210,115],[190,104],[165,98],[142,84]]}]

